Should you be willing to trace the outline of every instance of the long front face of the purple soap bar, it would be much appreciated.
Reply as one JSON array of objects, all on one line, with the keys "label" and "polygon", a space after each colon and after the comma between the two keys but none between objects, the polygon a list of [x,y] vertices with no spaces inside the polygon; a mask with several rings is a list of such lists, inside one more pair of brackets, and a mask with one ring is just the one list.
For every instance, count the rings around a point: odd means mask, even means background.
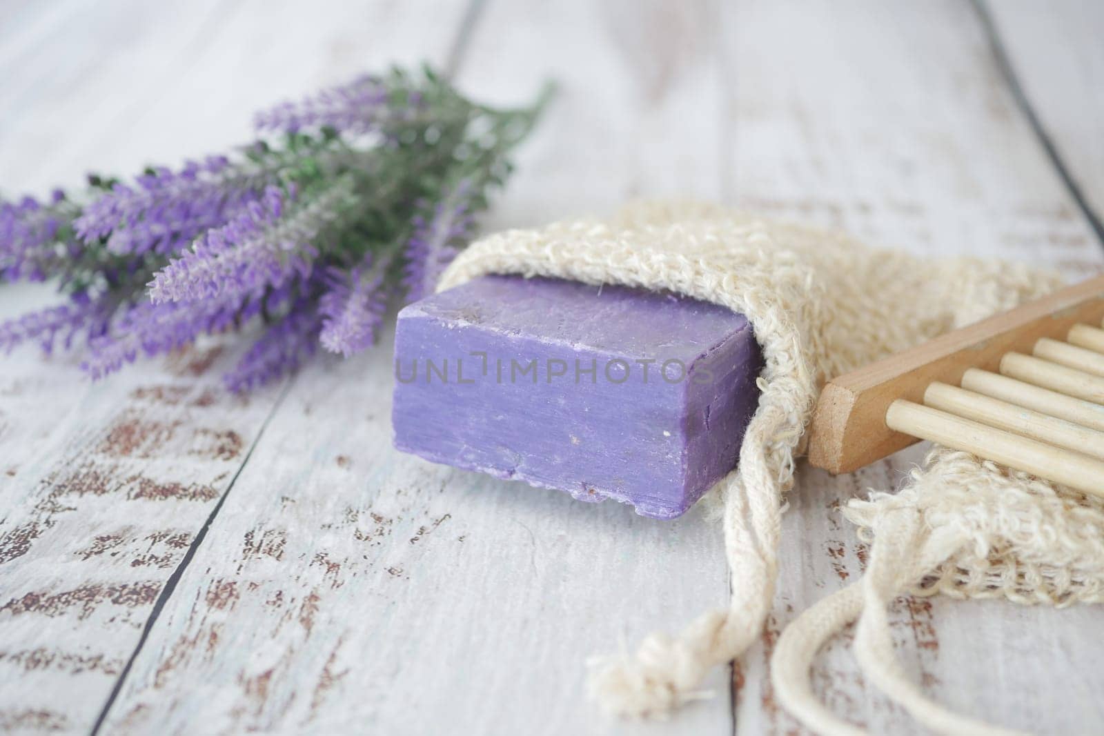
[{"label": "long front face of the purple soap bar", "polygon": [[[442,352],[446,339],[447,355]],[[399,449],[565,490],[581,500],[616,498],[666,510],[670,497],[681,494],[677,397],[647,392],[643,384],[604,383],[598,372],[608,356],[539,339],[503,341],[477,328],[424,318],[405,321],[395,341],[400,355],[436,355],[421,361],[421,370],[400,360],[399,377],[413,380],[395,393]],[[474,353],[488,355],[486,375],[482,358]],[[553,374],[564,366],[569,374],[553,375],[549,383],[550,364]],[[440,378],[446,371],[448,384]]]}]

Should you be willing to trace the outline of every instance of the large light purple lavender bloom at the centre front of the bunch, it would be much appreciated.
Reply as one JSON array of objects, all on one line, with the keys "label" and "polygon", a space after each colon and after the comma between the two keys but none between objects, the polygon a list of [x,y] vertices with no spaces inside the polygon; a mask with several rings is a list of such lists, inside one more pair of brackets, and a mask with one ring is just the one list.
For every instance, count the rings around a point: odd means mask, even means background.
[{"label": "large light purple lavender bloom at the centre front of the bunch", "polygon": [[250,202],[158,271],[149,285],[150,297],[155,302],[200,301],[306,278],[319,254],[319,235],[351,196],[347,179],[302,198],[296,196],[294,184],[286,195],[269,186],[262,202]]}]

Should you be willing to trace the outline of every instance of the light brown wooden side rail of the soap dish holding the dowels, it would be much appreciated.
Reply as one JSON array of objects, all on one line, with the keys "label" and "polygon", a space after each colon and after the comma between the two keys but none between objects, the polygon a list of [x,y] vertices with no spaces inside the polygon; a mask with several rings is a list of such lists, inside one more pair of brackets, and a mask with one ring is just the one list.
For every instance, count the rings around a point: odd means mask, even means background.
[{"label": "light brown wooden side rail of the soap dish holding the dowels", "polygon": [[996,371],[1007,353],[1030,353],[1040,338],[1064,340],[1073,326],[1102,318],[1104,277],[1097,277],[835,377],[809,425],[809,462],[851,472],[881,460],[916,441],[885,424],[894,401],[923,402],[935,381],[957,385],[967,369]]}]

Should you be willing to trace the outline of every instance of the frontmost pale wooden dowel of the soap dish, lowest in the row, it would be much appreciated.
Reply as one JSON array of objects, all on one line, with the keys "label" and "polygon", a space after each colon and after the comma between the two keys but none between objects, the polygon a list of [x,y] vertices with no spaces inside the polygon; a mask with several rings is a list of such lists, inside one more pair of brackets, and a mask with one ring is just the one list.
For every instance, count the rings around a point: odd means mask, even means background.
[{"label": "frontmost pale wooden dowel of the soap dish, lowest in the row", "polygon": [[894,431],[973,452],[1084,493],[1104,497],[1104,462],[1085,455],[901,398],[890,404],[885,424]]}]

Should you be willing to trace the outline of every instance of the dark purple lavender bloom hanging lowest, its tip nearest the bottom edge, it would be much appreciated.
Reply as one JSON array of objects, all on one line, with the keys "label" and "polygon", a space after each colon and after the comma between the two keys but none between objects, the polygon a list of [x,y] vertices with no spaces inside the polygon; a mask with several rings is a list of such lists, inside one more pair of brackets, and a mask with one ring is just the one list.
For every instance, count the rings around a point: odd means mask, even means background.
[{"label": "dark purple lavender bloom hanging lowest, its tip nearest the bottom edge", "polygon": [[299,367],[318,349],[321,318],[315,305],[299,299],[290,311],[261,335],[237,366],[223,376],[235,393],[256,388]]}]

